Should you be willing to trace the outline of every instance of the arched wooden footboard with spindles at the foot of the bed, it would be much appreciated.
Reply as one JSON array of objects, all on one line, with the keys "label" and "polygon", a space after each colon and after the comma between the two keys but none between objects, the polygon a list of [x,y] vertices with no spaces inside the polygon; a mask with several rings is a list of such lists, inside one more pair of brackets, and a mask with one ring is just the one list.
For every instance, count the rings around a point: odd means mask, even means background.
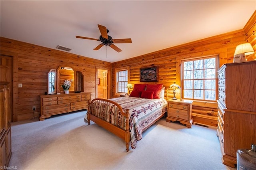
[{"label": "arched wooden footboard with spindles at the foot of the bed", "polygon": [[88,125],[90,125],[90,121],[93,121],[116,136],[122,138],[126,143],[126,151],[128,152],[131,140],[129,109],[126,109],[126,112],[124,112],[118,103],[107,99],[96,98],[89,101],[88,104]]}]

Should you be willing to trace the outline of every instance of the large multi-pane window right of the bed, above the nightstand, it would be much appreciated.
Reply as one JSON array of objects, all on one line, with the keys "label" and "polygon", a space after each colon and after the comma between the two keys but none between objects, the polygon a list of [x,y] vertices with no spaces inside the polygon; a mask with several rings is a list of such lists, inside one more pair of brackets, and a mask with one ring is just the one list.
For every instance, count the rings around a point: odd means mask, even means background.
[{"label": "large multi-pane window right of the bed, above the nightstand", "polygon": [[184,60],[183,98],[216,101],[218,56]]}]

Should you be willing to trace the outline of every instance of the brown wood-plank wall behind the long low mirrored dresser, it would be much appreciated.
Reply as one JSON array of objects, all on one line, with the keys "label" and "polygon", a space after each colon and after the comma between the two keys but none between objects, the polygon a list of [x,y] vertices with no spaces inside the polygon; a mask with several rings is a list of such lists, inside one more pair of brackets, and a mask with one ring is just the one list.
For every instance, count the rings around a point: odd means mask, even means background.
[{"label": "brown wood-plank wall behind the long low mirrored dresser", "polygon": [[[47,91],[47,74],[60,65],[84,75],[84,92],[96,94],[96,66],[111,68],[111,63],[30,43],[1,37],[1,54],[13,57],[13,120],[32,119],[40,114],[40,97]],[[18,88],[22,83],[22,88]],[[33,115],[32,106],[36,106]]]}]

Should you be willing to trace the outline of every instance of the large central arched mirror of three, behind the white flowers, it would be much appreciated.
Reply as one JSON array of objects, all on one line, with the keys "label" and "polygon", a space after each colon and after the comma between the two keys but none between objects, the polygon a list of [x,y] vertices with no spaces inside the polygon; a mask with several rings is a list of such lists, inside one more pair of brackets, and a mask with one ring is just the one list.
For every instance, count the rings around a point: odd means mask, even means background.
[{"label": "large central arched mirror of three, behind the white flowers", "polygon": [[57,69],[58,72],[58,92],[64,92],[64,89],[62,87],[65,80],[71,81],[71,86],[69,88],[69,91],[75,91],[75,79],[74,79],[74,70],[71,67],[64,67],[60,66]]}]

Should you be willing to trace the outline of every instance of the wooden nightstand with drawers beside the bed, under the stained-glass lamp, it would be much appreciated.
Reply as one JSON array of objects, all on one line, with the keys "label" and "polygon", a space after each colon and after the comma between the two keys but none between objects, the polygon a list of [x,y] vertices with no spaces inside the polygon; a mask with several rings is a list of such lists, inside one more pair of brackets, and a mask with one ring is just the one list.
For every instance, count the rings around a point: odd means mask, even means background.
[{"label": "wooden nightstand with drawers beside the bed, under the stained-glass lamp", "polygon": [[191,128],[193,123],[192,119],[192,102],[191,100],[167,100],[168,102],[168,115],[167,122],[179,121],[186,127]]}]

